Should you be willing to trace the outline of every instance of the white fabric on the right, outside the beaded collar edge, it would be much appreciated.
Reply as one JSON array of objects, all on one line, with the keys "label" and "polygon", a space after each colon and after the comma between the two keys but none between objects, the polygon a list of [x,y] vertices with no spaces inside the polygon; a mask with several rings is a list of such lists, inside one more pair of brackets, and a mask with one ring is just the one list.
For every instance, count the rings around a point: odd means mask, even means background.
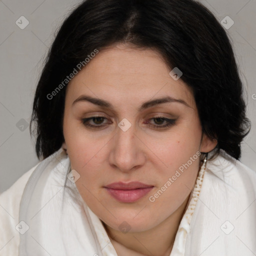
[{"label": "white fabric on the right, outside the beaded collar edge", "polygon": [[208,256],[256,251],[255,196],[256,171],[220,150],[207,161],[187,250],[195,255],[212,243],[205,252]]}]

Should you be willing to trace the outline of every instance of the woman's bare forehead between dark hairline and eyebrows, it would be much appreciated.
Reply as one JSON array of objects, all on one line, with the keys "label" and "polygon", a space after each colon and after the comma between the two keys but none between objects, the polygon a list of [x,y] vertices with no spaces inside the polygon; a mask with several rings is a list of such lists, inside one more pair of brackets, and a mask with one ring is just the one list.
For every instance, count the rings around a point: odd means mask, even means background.
[{"label": "woman's bare forehead between dark hairline and eyebrows", "polygon": [[182,98],[191,106],[191,89],[174,80],[161,55],[152,49],[115,44],[99,52],[71,79],[67,100],[81,94],[107,98],[109,101],[133,103],[154,97]]}]

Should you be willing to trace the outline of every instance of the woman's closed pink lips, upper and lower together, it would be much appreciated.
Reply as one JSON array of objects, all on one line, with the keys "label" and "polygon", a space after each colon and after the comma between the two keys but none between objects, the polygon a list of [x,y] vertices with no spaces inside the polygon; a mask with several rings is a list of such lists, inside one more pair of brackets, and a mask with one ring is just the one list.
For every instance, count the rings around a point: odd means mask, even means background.
[{"label": "woman's closed pink lips, upper and lower together", "polygon": [[106,185],[105,188],[112,197],[120,202],[134,202],[146,195],[153,186],[133,181],[128,183],[114,182]]}]

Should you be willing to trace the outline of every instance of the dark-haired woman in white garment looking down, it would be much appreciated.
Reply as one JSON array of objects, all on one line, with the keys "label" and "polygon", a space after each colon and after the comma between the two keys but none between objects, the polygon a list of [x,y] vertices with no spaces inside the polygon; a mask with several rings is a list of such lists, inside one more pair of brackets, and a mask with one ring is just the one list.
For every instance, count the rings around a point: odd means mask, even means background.
[{"label": "dark-haired woman in white garment looking down", "polygon": [[241,95],[224,28],[201,4],[83,1],[37,84],[42,161],[0,195],[0,252],[254,255]]}]

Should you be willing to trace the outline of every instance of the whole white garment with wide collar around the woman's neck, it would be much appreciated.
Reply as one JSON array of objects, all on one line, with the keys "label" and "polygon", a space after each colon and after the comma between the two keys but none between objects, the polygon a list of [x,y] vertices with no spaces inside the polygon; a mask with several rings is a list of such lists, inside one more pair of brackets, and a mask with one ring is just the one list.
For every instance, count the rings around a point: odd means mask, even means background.
[{"label": "whole white garment with wide collar around the woman's neck", "polygon": [[[0,194],[0,256],[117,256],[69,166],[60,148]],[[223,150],[200,169],[170,253],[199,255],[256,255],[256,172]]]}]

